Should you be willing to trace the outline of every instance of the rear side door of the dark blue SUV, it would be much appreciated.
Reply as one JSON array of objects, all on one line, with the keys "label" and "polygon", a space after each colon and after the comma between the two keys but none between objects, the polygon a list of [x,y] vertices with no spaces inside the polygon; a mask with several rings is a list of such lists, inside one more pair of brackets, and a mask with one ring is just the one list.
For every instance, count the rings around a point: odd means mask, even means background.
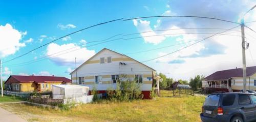
[{"label": "rear side door of the dark blue SUV", "polygon": [[246,120],[253,120],[255,114],[254,105],[252,104],[249,95],[239,95],[238,103],[240,111],[245,115]]}]

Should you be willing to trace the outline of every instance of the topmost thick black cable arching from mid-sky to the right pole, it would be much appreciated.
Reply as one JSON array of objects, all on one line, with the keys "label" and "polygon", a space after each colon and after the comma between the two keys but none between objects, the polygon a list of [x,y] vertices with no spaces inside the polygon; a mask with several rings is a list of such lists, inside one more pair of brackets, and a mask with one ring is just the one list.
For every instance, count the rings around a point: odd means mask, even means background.
[{"label": "topmost thick black cable arching from mid-sky to the right pole", "polygon": [[123,21],[127,21],[127,20],[133,20],[133,19],[143,19],[143,18],[156,18],[156,17],[193,17],[193,18],[205,18],[205,19],[214,19],[214,20],[220,20],[220,21],[225,21],[225,22],[230,22],[230,23],[236,23],[239,24],[238,22],[233,22],[233,21],[228,21],[228,20],[224,20],[224,19],[218,19],[218,18],[211,18],[211,17],[202,17],[202,16],[147,16],[147,17],[137,17],[137,18],[130,18],[130,19],[124,19]]}]

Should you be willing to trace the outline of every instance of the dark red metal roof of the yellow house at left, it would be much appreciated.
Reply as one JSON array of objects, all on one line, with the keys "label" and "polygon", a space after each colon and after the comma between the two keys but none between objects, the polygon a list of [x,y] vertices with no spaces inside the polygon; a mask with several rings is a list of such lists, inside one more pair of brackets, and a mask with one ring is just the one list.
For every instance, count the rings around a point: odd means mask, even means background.
[{"label": "dark red metal roof of the yellow house at left", "polygon": [[[66,77],[56,77],[56,76],[22,76],[22,75],[11,75],[10,77],[15,78],[19,82],[37,82],[37,83],[43,83],[43,82],[71,82],[71,79],[68,79]],[[9,79],[9,78],[8,78]]]}]

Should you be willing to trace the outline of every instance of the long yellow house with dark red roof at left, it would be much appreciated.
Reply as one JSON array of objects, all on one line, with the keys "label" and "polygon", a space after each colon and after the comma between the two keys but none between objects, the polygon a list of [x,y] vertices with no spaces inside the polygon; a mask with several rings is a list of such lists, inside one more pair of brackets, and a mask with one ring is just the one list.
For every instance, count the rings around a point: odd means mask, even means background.
[{"label": "long yellow house with dark red roof at left", "polygon": [[5,89],[13,92],[46,92],[53,84],[71,84],[71,79],[56,76],[11,75],[5,82]]}]

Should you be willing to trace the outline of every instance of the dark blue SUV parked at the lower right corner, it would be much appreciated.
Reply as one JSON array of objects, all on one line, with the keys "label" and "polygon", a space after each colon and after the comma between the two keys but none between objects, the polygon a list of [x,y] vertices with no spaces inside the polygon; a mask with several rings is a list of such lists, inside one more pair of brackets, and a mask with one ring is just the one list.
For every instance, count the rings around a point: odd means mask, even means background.
[{"label": "dark blue SUV parked at the lower right corner", "polygon": [[205,98],[200,114],[203,122],[256,120],[256,95],[251,93],[214,93]]}]

